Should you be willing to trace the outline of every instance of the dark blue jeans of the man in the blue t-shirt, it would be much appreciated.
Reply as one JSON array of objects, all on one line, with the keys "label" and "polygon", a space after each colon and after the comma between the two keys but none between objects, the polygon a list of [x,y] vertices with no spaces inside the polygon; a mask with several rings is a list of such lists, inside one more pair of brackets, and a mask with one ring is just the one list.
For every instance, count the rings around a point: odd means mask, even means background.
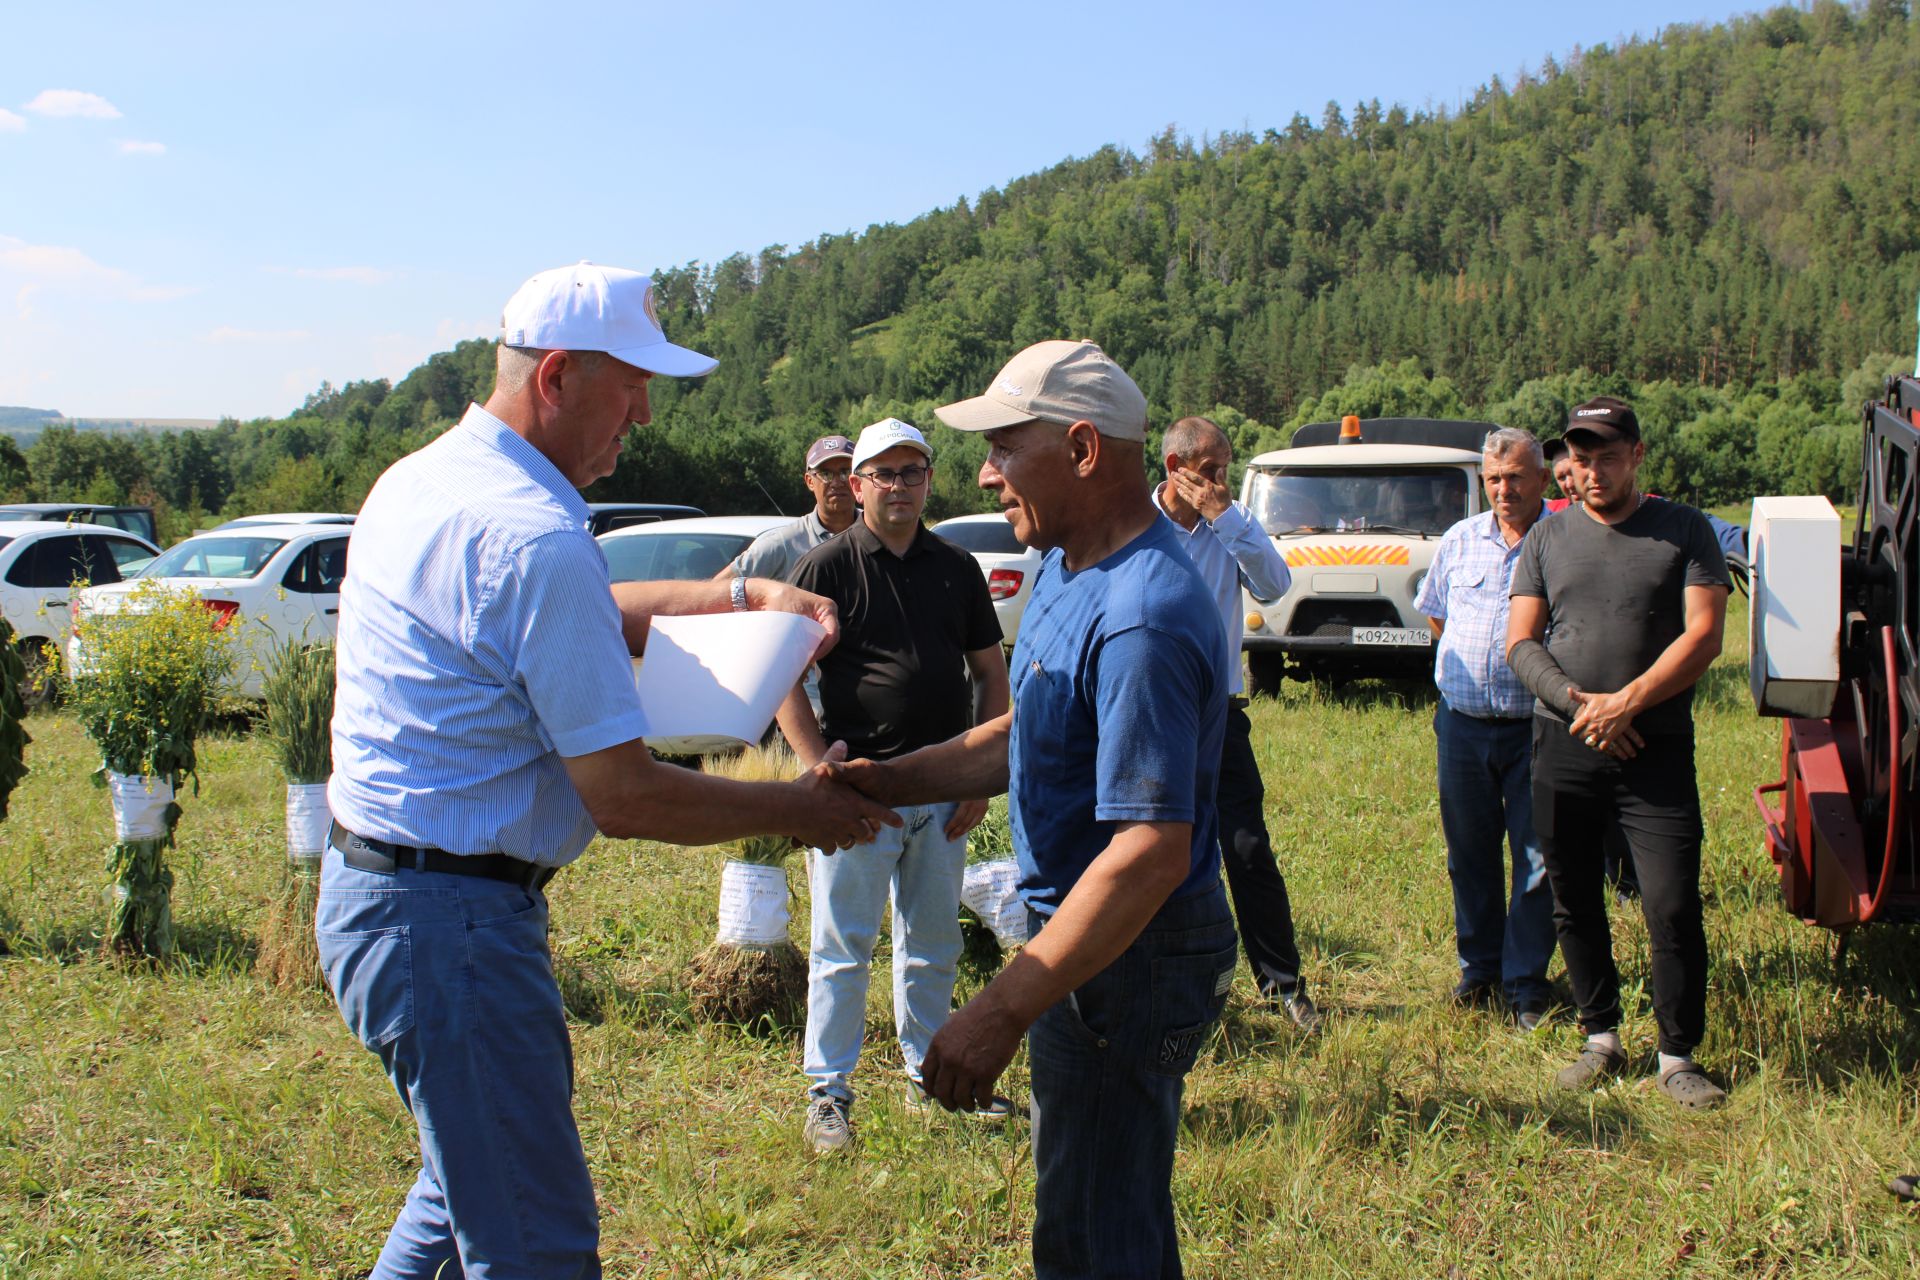
[{"label": "dark blue jeans of the man in the blue t-shirt", "polygon": [[[1037,933],[1041,915],[1031,915]],[[1238,961],[1227,894],[1175,898],[1027,1031],[1035,1280],[1181,1276],[1181,1090]]]}]

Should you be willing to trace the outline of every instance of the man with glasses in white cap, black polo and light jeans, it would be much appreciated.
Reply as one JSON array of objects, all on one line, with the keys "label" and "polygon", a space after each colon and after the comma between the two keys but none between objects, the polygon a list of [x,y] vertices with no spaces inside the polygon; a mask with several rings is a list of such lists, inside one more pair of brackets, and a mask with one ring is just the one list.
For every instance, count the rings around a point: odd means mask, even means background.
[{"label": "man with glasses in white cap, black polo and light jeans", "polygon": [[[780,727],[804,764],[841,741],[849,754],[891,760],[945,743],[1006,712],[1000,624],[979,562],[920,522],[933,449],[918,428],[885,418],[852,451],[860,522],[801,557],[791,581],[839,608],[841,641],[820,662],[820,720],[789,697]],[[960,961],[966,835],[985,798],[916,804],[904,825],[868,844],[812,860],[812,956],[806,981],[804,1138],[818,1153],[852,1140],[852,1069],[866,1029],[866,986],[887,894],[893,894],[893,1019],[912,1098],[922,1063],[952,1009]],[[998,1121],[1008,1103],[977,1113]]]}]

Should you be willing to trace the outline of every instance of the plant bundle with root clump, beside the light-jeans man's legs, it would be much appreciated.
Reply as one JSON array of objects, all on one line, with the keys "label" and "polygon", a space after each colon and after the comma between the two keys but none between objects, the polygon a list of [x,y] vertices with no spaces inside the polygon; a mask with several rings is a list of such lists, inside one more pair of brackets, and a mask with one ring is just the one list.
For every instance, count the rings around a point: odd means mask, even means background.
[{"label": "plant bundle with root clump, beside the light-jeans man's legs", "polygon": [[[707,773],[749,783],[785,781],[801,764],[785,748],[751,748],[708,758]],[[720,927],[712,946],[687,965],[693,1011],[712,1023],[791,1027],[806,1004],[806,958],[787,933],[787,854],[783,835],[753,835],[718,846]]]}]

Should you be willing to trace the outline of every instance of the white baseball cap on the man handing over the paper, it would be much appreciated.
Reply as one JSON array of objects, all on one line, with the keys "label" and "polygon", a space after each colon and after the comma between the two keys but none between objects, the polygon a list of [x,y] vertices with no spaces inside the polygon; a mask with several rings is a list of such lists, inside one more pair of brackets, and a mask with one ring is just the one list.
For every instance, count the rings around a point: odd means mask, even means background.
[{"label": "white baseball cap on the man handing over the paper", "polygon": [[703,378],[720,361],[676,347],[660,330],[653,276],[580,261],[541,271],[501,313],[501,342],[540,351],[605,351],[670,378]]}]

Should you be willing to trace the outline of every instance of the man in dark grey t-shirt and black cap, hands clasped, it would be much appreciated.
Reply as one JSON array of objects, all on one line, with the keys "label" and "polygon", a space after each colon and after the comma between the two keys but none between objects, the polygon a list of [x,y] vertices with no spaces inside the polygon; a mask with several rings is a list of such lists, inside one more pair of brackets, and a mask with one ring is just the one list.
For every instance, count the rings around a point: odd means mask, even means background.
[{"label": "man in dark grey t-shirt and black cap, hands clasped", "polygon": [[1601,879],[1603,833],[1619,818],[1647,917],[1659,1086],[1684,1107],[1713,1107],[1726,1094],[1693,1061],[1707,1031],[1693,683],[1720,652],[1726,558],[1701,512],[1640,491],[1645,445],[1628,405],[1590,399],[1565,439],[1582,503],[1532,530],[1507,614],[1507,662],[1540,699],[1534,829],[1588,1036],[1555,1079],[1588,1088],[1626,1063]]}]

